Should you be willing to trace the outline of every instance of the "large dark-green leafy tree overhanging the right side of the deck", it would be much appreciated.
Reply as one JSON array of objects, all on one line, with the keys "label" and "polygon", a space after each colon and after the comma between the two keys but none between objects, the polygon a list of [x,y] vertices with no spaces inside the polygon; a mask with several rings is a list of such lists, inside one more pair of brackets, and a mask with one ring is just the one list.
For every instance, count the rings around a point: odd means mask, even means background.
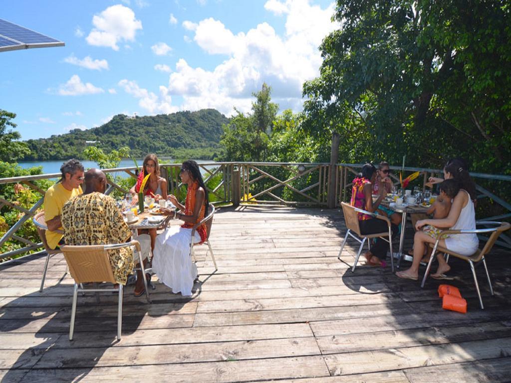
[{"label": "large dark-green leafy tree overhanging the right side of the deck", "polygon": [[511,163],[511,7],[505,1],[339,0],[342,25],[304,84],[304,127],[341,133],[340,157],[481,172]]}]

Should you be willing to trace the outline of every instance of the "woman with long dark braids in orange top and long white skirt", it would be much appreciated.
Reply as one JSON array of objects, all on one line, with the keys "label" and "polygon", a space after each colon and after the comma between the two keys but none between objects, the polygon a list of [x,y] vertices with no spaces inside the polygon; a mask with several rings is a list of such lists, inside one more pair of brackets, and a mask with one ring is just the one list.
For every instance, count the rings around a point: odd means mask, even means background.
[{"label": "woman with long dark braids in orange top and long white skirt", "polygon": [[[197,266],[190,256],[192,228],[207,215],[209,203],[197,162],[183,162],[179,176],[181,182],[188,186],[184,205],[170,195],[169,200],[179,212],[169,208],[161,208],[160,211],[166,216],[183,221],[184,224],[171,226],[156,237],[152,266],[158,279],[169,286],[174,294],[180,292],[183,296],[190,296],[197,278]],[[206,238],[206,227],[202,224],[195,231],[193,241],[202,243]]]}]

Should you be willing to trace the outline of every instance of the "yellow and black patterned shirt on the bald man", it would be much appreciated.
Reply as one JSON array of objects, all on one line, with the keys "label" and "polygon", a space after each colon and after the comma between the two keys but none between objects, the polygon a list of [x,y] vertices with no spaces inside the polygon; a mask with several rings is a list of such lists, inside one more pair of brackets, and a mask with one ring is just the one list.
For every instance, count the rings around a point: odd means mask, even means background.
[{"label": "yellow and black patterned shirt on the bald man", "polygon": [[[115,200],[97,192],[67,201],[62,208],[62,226],[66,245],[120,244],[131,236]],[[126,247],[107,252],[115,280],[126,284],[133,272],[133,250]]]}]

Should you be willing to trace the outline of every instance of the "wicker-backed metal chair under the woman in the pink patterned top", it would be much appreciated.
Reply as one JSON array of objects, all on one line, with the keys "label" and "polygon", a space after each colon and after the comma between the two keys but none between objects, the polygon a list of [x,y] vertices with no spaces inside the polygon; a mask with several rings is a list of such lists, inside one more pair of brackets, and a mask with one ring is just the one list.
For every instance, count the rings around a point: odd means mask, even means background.
[{"label": "wicker-backed metal chair under the woman in the pink patterned top", "polygon": [[[370,250],[370,244],[369,244],[370,239],[371,238],[382,238],[382,240],[388,242],[390,245],[390,265],[392,268],[392,272],[394,272],[394,257],[393,257],[393,252],[392,252],[392,230],[391,230],[390,220],[387,217],[381,216],[380,214],[371,213],[370,211],[359,209],[359,208],[354,207],[354,206],[347,204],[345,202],[341,202],[341,206],[342,206],[342,210],[344,213],[344,221],[346,223],[347,231],[346,231],[346,235],[344,236],[344,240],[342,241],[341,249],[339,250],[339,255],[337,256],[337,258],[339,260],[341,259],[341,253],[342,253],[342,250],[344,249],[344,245],[346,244],[348,236],[351,236],[354,240],[356,240],[358,243],[360,243],[360,248],[358,249],[357,257],[355,258],[355,263],[353,264],[353,267],[352,267],[352,273],[353,273],[353,272],[355,272],[355,267],[357,266],[357,262],[360,257],[360,254],[362,253],[362,249],[364,247],[365,241],[368,240],[367,247]],[[353,214],[353,212],[368,214],[369,216],[371,216],[373,218],[385,221],[388,225],[388,233],[382,232],[382,233],[376,233],[376,234],[361,234],[357,214]],[[353,217],[355,217],[355,218],[353,218]],[[357,236],[352,234],[352,231],[355,232],[357,234]],[[385,238],[385,236],[388,236],[388,240],[387,240],[387,238]],[[360,238],[362,238],[362,239],[360,239]]]}]

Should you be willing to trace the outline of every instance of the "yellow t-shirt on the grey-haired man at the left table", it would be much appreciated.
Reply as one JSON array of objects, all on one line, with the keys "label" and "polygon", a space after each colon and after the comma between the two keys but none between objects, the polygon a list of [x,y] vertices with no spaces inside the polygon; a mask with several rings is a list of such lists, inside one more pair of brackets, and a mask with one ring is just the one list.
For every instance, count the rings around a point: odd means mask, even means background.
[{"label": "yellow t-shirt on the grey-haired man at the left table", "polygon": [[[62,207],[72,197],[82,194],[82,187],[67,190],[62,183],[56,183],[51,186],[44,195],[44,221],[50,221],[62,214]],[[59,227],[62,230],[62,227]],[[55,231],[46,231],[46,241],[51,249],[55,249],[59,244],[62,234]]]}]

